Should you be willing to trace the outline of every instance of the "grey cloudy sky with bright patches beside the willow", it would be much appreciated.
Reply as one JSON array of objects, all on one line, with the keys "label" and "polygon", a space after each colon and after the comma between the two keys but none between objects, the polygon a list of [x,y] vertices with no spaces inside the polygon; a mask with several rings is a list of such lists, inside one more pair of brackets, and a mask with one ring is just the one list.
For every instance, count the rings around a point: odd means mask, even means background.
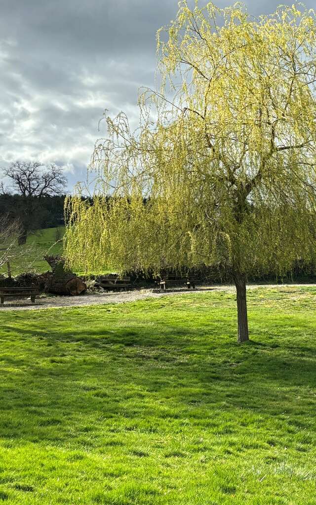
[{"label": "grey cloudy sky with bright patches beside the willow", "polygon": [[[259,14],[293,2],[245,3]],[[135,118],[139,87],[154,87],[155,33],[177,0],[0,0],[0,8],[0,167],[54,162],[71,190],[105,134],[104,109]]]}]

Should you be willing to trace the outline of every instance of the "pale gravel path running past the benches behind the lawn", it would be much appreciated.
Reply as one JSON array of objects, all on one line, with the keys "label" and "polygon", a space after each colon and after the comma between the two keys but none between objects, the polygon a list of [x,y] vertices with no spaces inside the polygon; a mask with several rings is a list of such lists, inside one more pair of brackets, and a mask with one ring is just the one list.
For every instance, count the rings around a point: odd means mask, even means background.
[{"label": "pale gravel path running past the benches behind the lawn", "polygon": [[[249,284],[247,289],[257,287],[288,288],[288,287],[316,287],[316,284]],[[91,305],[122,304],[126,301],[142,300],[145,298],[160,298],[161,296],[172,296],[174,294],[190,294],[192,292],[201,293],[204,291],[235,291],[233,285],[201,286],[198,289],[170,289],[166,292],[159,289],[139,289],[134,291],[104,292],[94,294],[84,294],[82,296],[40,296],[36,298],[35,304],[31,304],[25,298],[6,298],[5,304],[0,306],[1,310],[36,310],[52,309],[58,307],[85,307]]]}]

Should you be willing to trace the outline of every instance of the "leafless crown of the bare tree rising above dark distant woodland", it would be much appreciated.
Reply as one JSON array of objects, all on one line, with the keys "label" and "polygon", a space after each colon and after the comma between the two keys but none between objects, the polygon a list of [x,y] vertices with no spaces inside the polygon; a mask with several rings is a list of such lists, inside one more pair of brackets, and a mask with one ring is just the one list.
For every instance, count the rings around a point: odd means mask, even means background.
[{"label": "leafless crown of the bare tree rising above dark distant woodland", "polygon": [[62,169],[54,163],[44,166],[37,161],[16,161],[3,173],[11,188],[25,197],[61,194],[67,184]]}]

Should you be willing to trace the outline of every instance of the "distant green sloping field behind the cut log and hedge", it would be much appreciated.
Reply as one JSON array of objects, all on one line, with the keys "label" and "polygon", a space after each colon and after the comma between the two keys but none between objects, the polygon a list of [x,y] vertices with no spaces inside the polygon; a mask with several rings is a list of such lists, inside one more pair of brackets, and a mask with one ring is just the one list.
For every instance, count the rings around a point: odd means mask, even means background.
[{"label": "distant green sloping field behind the cut log and hedge", "polygon": [[[15,250],[23,250],[27,248],[30,254],[25,255],[25,258],[11,262],[12,275],[16,276],[23,272],[35,271],[37,273],[47,272],[51,270],[49,264],[43,260],[43,256],[61,255],[63,252],[62,237],[65,232],[64,226],[57,228],[45,228],[33,233],[29,233],[26,246],[17,245]],[[7,266],[0,269],[0,273],[7,273]]]}]

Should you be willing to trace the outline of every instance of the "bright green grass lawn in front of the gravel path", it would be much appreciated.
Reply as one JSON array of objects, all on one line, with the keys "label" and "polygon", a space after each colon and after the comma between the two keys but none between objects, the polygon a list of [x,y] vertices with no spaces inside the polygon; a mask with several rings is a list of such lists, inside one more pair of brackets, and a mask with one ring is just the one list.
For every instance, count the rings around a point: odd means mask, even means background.
[{"label": "bright green grass lawn in front of the gravel path", "polygon": [[314,505],[313,287],[0,312],[0,502]]}]

